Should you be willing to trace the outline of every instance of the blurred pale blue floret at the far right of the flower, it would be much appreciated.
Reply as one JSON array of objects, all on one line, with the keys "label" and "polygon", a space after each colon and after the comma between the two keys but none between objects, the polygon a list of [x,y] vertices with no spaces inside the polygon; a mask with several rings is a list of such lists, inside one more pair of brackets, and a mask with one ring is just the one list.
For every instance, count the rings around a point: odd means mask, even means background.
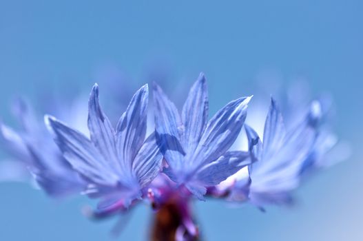
[{"label": "blurred pale blue floret at the far right of the flower", "polygon": [[263,143],[254,129],[245,125],[251,158],[249,166],[249,200],[258,206],[291,202],[291,191],[300,183],[301,169],[315,147],[320,103],[314,101],[304,120],[286,131],[276,101],[265,121]]}]

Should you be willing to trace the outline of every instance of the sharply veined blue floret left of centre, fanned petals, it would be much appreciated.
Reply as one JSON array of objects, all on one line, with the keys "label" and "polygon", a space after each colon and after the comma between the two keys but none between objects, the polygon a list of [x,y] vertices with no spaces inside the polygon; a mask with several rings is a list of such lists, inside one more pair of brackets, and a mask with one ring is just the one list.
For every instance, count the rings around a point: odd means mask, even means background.
[{"label": "sharply veined blue floret left of centre, fanned petals", "polygon": [[152,134],[145,140],[148,87],[134,94],[114,129],[98,103],[94,85],[88,103],[90,138],[48,116],[56,144],[89,183],[85,193],[101,198],[100,213],[114,213],[142,197],[142,189],[160,172],[163,156]]}]

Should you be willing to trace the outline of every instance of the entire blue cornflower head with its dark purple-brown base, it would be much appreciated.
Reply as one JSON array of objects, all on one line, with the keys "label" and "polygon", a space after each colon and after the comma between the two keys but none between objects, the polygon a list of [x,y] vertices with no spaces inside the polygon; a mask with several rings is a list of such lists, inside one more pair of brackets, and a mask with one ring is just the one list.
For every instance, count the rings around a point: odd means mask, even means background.
[{"label": "entire blue cornflower head with its dark purple-brown base", "polygon": [[[312,101],[304,113],[289,113],[303,116],[291,124],[271,98],[260,138],[259,129],[245,124],[252,96],[227,103],[209,119],[204,74],[192,85],[181,112],[156,83],[153,94],[154,113],[147,114],[149,90],[144,85],[114,127],[101,109],[95,84],[88,101],[90,136],[81,132],[83,126],[74,129],[72,123],[46,115],[50,135],[22,105],[22,132],[0,124],[1,147],[17,164],[0,165],[0,180],[29,169],[50,196],[98,198],[95,210],[84,209],[92,218],[126,213],[145,202],[155,211],[151,240],[199,240],[192,200],[250,202],[262,210],[290,204],[291,192],[305,174],[333,163],[327,159],[337,140],[322,128],[327,112],[322,101]],[[148,115],[154,116],[154,124]],[[149,136],[147,125],[154,129]],[[246,134],[248,150],[231,149],[240,133]]]}]

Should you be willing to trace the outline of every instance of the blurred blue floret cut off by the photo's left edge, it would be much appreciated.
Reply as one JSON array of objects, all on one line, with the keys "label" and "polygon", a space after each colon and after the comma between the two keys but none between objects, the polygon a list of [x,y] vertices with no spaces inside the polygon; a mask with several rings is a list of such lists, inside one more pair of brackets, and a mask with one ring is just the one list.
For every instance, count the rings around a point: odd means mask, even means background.
[{"label": "blurred blue floret cut off by the photo's left edge", "polygon": [[54,198],[81,191],[85,182],[65,162],[43,120],[39,121],[36,118],[25,101],[19,100],[15,109],[21,123],[21,131],[17,132],[0,123],[2,147],[11,156],[10,161],[1,162],[4,174],[8,174],[8,178],[11,176],[12,179],[29,180],[30,171],[37,184]]}]

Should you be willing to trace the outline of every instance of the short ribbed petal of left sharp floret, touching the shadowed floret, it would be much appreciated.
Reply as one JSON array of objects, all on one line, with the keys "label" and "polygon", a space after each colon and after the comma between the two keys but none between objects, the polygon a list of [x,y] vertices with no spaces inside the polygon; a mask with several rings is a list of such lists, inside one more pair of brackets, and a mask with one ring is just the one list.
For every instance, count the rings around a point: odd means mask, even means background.
[{"label": "short ribbed petal of left sharp floret, touching the shadowed floret", "polygon": [[159,174],[163,155],[156,145],[155,133],[151,134],[136,155],[132,169],[141,187],[148,185]]}]

